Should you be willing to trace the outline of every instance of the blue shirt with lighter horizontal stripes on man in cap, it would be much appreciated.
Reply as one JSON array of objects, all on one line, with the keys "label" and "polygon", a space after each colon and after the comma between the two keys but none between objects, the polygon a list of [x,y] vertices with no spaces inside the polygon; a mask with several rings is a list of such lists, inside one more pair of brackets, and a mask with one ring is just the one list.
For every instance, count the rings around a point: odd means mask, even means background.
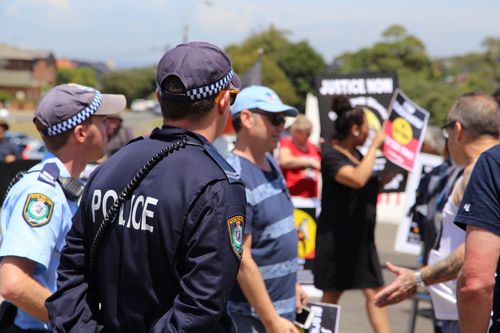
[{"label": "blue shirt with lighter horizontal stripes on man in cap", "polygon": [[[293,205],[278,165],[270,154],[271,172],[247,159],[230,154],[228,162],[240,174],[247,197],[245,234],[252,234],[252,257],[257,263],[276,311],[295,317],[297,281],[297,232]],[[228,304],[229,311],[258,318],[238,285]]]}]

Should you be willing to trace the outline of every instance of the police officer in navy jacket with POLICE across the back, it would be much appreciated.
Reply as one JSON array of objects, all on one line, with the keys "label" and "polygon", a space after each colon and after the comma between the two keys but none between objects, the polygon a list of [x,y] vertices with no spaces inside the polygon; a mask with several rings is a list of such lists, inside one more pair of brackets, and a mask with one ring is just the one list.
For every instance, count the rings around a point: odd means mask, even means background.
[{"label": "police officer in navy jacket with POLICE across the back", "polygon": [[[124,146],[90,177],[62,253],[59,289],[46,302],[55,332],[234,332],[227,299],[242,255],[246,199],[239,176],[210,142],[222,133],[239,87],[217,46],[181,44],[163,56],[163,127]],[[139,170],[165,147],[176,149],[144,176]],[[141,180],[131,186],[134,177]],[[94,247],[129,185],[135,189]]]}]

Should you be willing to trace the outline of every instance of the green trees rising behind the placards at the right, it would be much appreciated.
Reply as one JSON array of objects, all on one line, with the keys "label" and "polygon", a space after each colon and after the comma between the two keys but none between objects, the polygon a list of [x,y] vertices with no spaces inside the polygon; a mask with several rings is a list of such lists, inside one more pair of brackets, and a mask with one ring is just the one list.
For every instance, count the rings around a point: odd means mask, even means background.
[{"label": "green trees rising behind the placards at the right", "polygon": [[463,93],[491,93],[500,84],[496,61],[500,39],[488,37],[484,54],[432,60],[425,45],[400,25],[382,33],[382,41],[334,59],[340,73],[396,72],[401,89],[431,113],[430,123],[442,125],[454,101]]}]

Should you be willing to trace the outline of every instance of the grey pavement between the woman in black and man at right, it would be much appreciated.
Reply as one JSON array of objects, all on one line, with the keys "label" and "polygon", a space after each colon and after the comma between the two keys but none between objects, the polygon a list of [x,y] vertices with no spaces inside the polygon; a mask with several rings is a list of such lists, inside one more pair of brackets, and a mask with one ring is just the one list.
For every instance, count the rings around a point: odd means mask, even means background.
[{"label": "grey pavement between the woman in black and man at right", "polygon": [[[396,238],[397,225],[389,223],[378,223],[376,229],[376,244],[382,263],[391,261],[396,265],[415,267],[417,258],[412,255],[395,252],[394,240]],[[386,284],[394,280],[394,274],[384,269],[384,280]],[[415,323],[415,333],[433,332],[430,303],[420,301],[418,303],[418,314]],[[392,332],[408,332],[410,320],[410,309],[412,301],[406,300],[397,305],[388,307],[389,320]],[[365,298],[359,290],[352,290],[342,295],[340,299],[341,316],[340,332],[358,333],[372,332],[365,309]]]}]

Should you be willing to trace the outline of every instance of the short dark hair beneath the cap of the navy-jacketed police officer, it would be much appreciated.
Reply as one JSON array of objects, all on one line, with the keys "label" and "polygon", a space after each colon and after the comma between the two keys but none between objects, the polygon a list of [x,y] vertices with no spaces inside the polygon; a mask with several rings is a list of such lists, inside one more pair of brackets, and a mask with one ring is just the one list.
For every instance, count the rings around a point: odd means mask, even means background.
[{"label": "short dark hair beneath the cap of the navy-jacketed police officer", "polygon": [[212,110],[216,95],[212,95],[200,100],[173,100],[163,96],[162,91],[170,94],[185,94],[186,88],[181,80],[174,75],[167,76],[160,87],[161,113],[165,119],[183,119],[203,117]]}]

